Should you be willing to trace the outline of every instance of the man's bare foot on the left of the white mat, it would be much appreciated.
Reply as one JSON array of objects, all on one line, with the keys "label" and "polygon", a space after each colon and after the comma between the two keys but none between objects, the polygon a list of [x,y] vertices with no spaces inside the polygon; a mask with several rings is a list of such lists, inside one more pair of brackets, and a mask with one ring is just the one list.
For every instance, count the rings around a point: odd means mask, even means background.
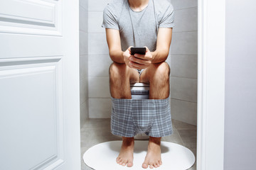
[{"label": "man's bare foot on the left of the white mat", "polygon": [[122,137],[122,147],[117,157],[117,164],[132,167],[134,152],[134,137]]}]

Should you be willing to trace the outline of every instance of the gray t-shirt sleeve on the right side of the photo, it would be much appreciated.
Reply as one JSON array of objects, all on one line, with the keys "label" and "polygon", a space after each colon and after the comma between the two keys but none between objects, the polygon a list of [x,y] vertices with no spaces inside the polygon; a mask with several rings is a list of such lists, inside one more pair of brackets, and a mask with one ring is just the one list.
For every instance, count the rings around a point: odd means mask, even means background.
[{"label": "gray t-shirt sleeve on the right side of the photo", "polygon": [[159,28],[173,28],[174,27],[174,7],[169,4],[169,7],[164,12],[164,16],[159,21]]}]

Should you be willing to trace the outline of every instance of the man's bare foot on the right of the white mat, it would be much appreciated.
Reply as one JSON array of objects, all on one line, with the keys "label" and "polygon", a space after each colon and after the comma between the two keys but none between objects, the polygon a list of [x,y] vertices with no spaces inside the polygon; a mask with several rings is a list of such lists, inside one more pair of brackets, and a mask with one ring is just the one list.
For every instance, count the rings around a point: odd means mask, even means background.
[{"label": "man's bare foot on the right of the white mat", "polygon": [[149,137],[148,152],[146,153],[142,168],[157,168],[161,164],[161,137]]}]

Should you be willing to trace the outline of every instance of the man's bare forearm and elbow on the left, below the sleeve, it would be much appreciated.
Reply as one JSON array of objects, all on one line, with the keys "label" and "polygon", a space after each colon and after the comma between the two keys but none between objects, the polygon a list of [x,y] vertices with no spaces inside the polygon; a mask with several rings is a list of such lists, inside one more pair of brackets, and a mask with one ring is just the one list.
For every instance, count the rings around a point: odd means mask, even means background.
[{"label": "man's bare forearm and elbow on the left, below the sleeve", "polygon": [[107,45],[113,62],[124,63],[119,30],[106,28]]}]

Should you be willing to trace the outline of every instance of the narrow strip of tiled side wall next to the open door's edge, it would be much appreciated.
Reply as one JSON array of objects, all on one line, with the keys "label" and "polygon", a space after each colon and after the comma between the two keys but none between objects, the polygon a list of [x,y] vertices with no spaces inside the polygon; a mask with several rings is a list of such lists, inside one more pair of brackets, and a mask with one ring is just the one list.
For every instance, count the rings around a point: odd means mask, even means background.
[{"label": "narrow strip of tiled side wall next to the open door's edge", "polygon": [[80,49],[80,125],[89,118],[88,112],[88,1],[80,0],[79,6]]}]

